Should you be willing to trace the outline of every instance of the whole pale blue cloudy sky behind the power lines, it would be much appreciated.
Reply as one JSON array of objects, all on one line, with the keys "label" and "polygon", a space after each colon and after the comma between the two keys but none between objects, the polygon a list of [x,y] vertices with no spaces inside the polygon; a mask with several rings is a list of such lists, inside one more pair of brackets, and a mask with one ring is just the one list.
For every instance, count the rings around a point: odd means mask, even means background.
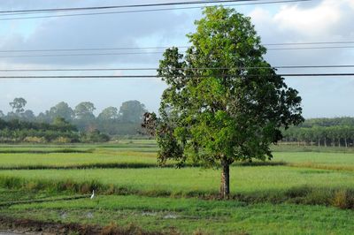
[{"label": "whole pale blue cloudy sky behind the power lines", "polygon": [[[265,0],[266,1],[266,0]],[[182,0],[2,0],[0,11],[183,2]],[[181,6],[180,6],[181,7]],[[353,42],[354,1],[312,0],[291,4],[238,5],[235,9],[249,16],[263,43]],[[118,10],[110,10],[118,11]],[[119,10],[121,11],[121,10]],[[39,16],[0,15],[0,70],[63,68],[136,68],[158,66],[162,53],[134,55],[63,56],[83,53],[122,53],[156,51],[65,51],[5,52],[20,49],[136,48],[188,45],[186,34],[195,31],[194,21],[201,9],[148,11],[44,19],[13,19]],[[56,13],[56,14],[65,14]],[[43,15],[43,14],[42,14]],[[53,15],[53,14],[51,14]],[[319,46],[319,45],[317,45]],[[334,45],[331,45],[334,46]],[[335,45],[341,46],[341,45]],[[354,43],[346,44],[354,46]],[[354,64],[354,49],[272,50],[267,61],[279,65]],[[56,54],[56,57],[34,57]],[[31,55],[31,57],[23,57]],[[58,56],[62,55],[62,56]],[[347,69],[279,70],[281,73],[353,72]],[[126,75],[138,72],[0,72],[0,76],[20,75]],[[147,73],[147,72],[144,72]],[[153,73],[153,72],[152,72]],[[354,77],[286,78],[303,98],[304,117],[354,117]],[[93,102],[96,114],[106,107],[118,107],[127,100],[138,100],[148,110],[157,111],[165,84],[158,79],[5,79],[0,80],[0,110],[10,111],[15,97],[27,100],[27,109],[36,114],[58,102],[75,107]]]}]

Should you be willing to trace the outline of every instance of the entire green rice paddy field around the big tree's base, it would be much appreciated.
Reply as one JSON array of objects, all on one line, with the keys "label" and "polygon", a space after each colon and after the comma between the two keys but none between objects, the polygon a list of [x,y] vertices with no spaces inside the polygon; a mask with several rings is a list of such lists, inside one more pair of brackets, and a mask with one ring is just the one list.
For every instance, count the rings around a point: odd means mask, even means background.
[{"label": "entire green rice paddy field around the big tree's base", "polygon": [[0,230],[353,234],[351,148],[277,146],[272,161],[235,163],[227,201],[218,169],[158,167],[157,151],[153,140],[0,145]]}]

